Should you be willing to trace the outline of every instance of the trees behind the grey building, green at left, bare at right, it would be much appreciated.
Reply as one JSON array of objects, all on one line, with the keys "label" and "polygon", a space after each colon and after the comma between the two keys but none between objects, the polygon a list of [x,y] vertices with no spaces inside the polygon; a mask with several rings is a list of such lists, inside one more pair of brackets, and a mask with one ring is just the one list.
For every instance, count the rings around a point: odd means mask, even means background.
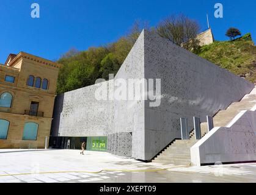
[{"label": "trees behind the grey building, green at left, bare at right", "polygon": [[[141,24],[140,21],[136,21],[128,35],[115,43],[81,52],[71,49],[60,57],[57,63],[64,66],[60,69],[57,93],[93,85],[99,78],[108,80],[109,74],[115,75],[143,28],[149,30],[147,23]],[[155,30],[160,36],[190,50],[191,46],[197,48],[195,37],[199,29],[197,21],[185,15],[171,15],[160,21]]]}]

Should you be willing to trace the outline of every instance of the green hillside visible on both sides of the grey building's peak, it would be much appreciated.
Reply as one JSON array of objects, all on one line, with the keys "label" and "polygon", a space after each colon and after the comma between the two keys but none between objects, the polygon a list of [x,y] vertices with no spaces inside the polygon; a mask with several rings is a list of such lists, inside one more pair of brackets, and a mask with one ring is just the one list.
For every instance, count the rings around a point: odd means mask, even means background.
[{"label": "green hillside visible on both sides of the grey building's peak", "polygon": [[[133,47],[140,31],[132,32],[114,43],[87,51],[71,49],[57,62],[60,69],[57,93],[93,85],[98,78],[108,80],[108,74],[116,74]],[[215,41],[197,50],[197,55],[228,69],[238,76],[256,82],[256,46],[251,34],[234,41]]]}]

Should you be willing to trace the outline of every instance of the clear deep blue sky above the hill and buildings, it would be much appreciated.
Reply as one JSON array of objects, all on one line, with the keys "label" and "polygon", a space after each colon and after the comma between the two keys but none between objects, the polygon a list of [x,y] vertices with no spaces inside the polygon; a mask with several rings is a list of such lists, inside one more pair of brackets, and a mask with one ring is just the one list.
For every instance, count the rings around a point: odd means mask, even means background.
[{"label": "clear deep blue sky above the hill and buildings", "polygon": [[[40,5],[40,18],[31,18],[31,4]],[[224,18],[214,18],[214,4],[224,6]],[[256,41],[256,1],[212,0],[0,0],[0,63],[7,55],[29,52],[57,60],[71,48],[86,50],[126,34],[136,19],[155,26],[172,13],[184,13],[207,29],[206,14],[216,40],[237,27]]]}]

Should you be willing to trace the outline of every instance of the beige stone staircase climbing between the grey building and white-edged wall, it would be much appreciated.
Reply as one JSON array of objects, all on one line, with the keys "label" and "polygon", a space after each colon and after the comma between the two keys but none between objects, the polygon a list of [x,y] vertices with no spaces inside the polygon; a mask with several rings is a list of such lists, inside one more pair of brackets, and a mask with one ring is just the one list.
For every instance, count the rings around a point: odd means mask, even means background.
[{"label": "beige stone staircase climbing between the grey building and white-edged wall", "polygon": [[[241,110],[250,110],[256,103],[256,88],[244,96],[240,102],[233,102],[226,110],[219,111],[213,118],[214,127],[224,127]],[[205,116],[206,117],[206,116]],[[201,123],[202,137],[208,132],[207,122]],[[189,134],[190,140],[175,140],[162,151],[152,162],[174,165],[190,165],[190,148],[197,143],[194,130]]]}]

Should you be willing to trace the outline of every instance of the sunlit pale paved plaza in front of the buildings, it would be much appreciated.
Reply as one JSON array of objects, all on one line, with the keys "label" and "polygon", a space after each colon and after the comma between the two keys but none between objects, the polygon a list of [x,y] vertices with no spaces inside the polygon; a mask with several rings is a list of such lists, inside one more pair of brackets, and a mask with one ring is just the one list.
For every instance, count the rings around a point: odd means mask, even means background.
[{"label": "sunlit pale paved plaza in front of the buildings", "polygon": [[[144,163],[107,152],[81,155],[76,150],[24,149],[1,149],[0,159],[1,183],[256,182],[256,163],[177,166]],[[106,171],[98,172],[103,169]]]}]

